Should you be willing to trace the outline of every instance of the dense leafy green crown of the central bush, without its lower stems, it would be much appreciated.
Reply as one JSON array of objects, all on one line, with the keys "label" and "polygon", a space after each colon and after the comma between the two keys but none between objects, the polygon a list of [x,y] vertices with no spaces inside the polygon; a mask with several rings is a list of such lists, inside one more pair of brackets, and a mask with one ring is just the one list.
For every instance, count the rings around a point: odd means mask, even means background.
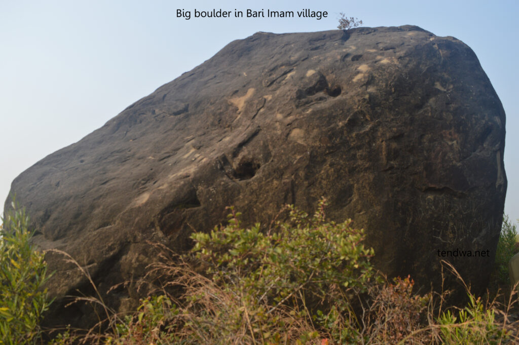
[{"label": "dense leafy green crown of the central bush, without its lower stems", "polygon": [[307,292],[301,303],[336,301],[345,289],[364,290],[373,275],[374,252],[362,244],[363,231],[351,228],[350,220],[325,223],[324,202],[313,217],[289,208],[291,222],[278,223],[267,234],[260,224],[241,228],[240,214],[232,210],[228,226],[192,235],[193,251],[217,284],[271,308],[297,299],[302,290]]}]

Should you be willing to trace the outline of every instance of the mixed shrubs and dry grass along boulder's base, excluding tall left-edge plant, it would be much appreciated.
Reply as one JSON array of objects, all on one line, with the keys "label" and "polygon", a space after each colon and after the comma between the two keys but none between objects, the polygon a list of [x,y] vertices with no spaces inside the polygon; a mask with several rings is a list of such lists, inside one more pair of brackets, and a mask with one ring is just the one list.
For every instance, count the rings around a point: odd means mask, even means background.
[{"label": "mixed shrubs and dry grass along boulder's base, excluding tall left-edge plant", "polygon": [[[193,250],[160,248],[147,278],[160,282],[131,315],[114,315],[104,334],[67,331],[54,345],[84,344],[512,344],[517,303],[445,307],[443,294],[417,294],[411,277],[388,281],[351,222],[327,222],[287,206],[288,221],[195,232]],[[445,263],[461,280],[454,267]]]}]

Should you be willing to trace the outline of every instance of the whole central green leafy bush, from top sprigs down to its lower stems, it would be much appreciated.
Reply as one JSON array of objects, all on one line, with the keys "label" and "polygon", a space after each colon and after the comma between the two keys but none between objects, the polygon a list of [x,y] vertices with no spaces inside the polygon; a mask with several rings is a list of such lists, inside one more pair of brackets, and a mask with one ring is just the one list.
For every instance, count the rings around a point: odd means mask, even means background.
[{"label": "whole central green leafy bush, from top sprigs down to its lower stems", "polygon": [[[302,343],[317,336],[316,328],[340,330],[334,333],[339,341],[356,336],[350,299],[374,279],[374,252],[350,220],[326,222],[324,206],[322,200],[313,216],[288,206],[290,221],[266,233],[260,224],[241,227],[240,213],[231,208],[227,226],[193,233],[193,252],[212,284],[238,298],[227,329],[237,332],[245,324],[252,343],[276,342],[284,329],[279,325],[292,315],[301,322],[299,329],[306,329],[298,334]],[[200,293],[195,300],[205,300]]]}]

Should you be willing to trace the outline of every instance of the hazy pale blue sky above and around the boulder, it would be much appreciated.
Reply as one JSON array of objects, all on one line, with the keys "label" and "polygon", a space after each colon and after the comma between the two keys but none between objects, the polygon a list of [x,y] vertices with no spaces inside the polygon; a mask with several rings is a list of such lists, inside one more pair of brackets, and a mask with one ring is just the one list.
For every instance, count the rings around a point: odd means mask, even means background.
[{"label": "hazy pale blue sky above and around the boulder", "polygon": [[[194,18],[194,11],[327,11],[328,17]],[[177,18],[177,9],[191,18]],[[257,31],[336,29],[339,12],[363,26],[418,25],[469,45],[507,114],[505,213],[519,218],[516,0],[129,1],[0,0],[0,212],[12,180],[101,127],[122,109]]]}]

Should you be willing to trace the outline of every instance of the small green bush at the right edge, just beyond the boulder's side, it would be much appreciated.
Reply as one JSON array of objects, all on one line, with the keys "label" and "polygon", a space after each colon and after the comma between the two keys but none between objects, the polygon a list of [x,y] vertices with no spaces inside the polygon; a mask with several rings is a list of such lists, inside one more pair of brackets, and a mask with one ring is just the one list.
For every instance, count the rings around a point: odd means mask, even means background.
[{"label": "small green bush at the right edge, just beyond the boulder's side", "polygon": [[512,224],[508,216],[504,216],[499,242],[497,243],[494,272],[490,279],[494,285],[510,284],[508,263],[516,253],[519,253],[517,225]]}]

